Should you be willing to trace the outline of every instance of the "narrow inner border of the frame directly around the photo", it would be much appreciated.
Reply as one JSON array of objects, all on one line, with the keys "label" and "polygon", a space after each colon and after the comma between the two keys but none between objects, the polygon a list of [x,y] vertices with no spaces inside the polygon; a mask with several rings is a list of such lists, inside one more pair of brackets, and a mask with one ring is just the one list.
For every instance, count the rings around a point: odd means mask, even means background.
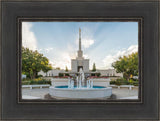
[{"label": "narrow inner border of the frame directly around the photo", "polygon": [[[83,99],[78,99],[78,100],[43,100],[43,99],[22,99],[22,88],[21,88],[21,47],[22,47],[22,22],[138,22],[138,57],[139,57],[139,88],[138,88],[138,99],[117,99],[117,100],[83,100]],[[105,103],[131,103],[131,104],[143,104],[143,99],[144,99],[144,77],[143,77],[143,70],[144,70],[144,49],[143,49],[143,22],[144,19],[142,16],[140,17],[25,17],[25,16],[20,16],[17,17],[17,52],[16,52],[16,58],[17,58],[17,102],[18,103],[100,103],[100,104],[105,104]]]}]

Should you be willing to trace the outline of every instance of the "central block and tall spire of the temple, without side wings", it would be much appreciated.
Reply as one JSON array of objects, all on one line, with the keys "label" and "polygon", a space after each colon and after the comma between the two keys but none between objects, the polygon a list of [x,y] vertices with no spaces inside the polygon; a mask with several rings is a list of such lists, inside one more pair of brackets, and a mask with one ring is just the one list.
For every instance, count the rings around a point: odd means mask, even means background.
[{"label": "central block and tall spire of the temple, without side wings", "polygon": [[89,72],[89,59],[83,57],[83,51],[81,47],[81,29],[79,28],[79,50],[77,51],[76,59],[71,59],[71,72],[79,72],[80,68],[84,72]]}]

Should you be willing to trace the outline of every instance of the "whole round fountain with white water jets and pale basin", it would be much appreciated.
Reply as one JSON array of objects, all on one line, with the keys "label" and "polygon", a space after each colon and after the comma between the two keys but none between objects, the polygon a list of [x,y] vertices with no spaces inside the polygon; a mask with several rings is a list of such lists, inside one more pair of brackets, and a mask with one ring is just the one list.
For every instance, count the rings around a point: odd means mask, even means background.
[{"label": "whole round fountain with white water jets and pale basin", "polygon": [[75,80],[68,78],[68,85],[51,86],[49,93],[55,98],[67,99],[98,99],[109,98],[112,95],[112,87],[96,86],[93,80],[85,79],[82,69]]}]

